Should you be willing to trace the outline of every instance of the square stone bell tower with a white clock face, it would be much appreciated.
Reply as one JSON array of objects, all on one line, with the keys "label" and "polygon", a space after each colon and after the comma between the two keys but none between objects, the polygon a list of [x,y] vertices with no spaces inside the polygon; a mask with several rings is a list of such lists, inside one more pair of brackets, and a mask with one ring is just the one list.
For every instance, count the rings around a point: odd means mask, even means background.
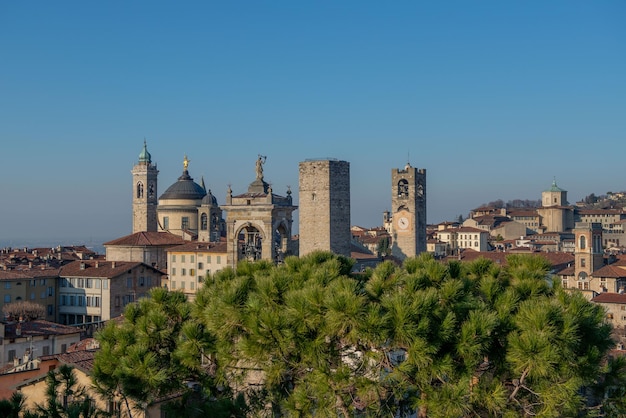
[{"label": "square stone bell tower with a white clock face", "polygon": [[426,170],[391,170],[391,254],[399,260],[426,251]]}]

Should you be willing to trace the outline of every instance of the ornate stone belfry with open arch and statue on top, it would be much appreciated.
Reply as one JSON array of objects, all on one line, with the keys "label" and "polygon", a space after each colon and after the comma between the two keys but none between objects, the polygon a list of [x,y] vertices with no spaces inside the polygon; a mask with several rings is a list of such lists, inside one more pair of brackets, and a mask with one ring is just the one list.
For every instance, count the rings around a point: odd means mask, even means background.
[{"label": "ornate stone belfry with open arch and statue on top", "polygon": [[256,162],[256,179],[248,186],[248,192],[233,196],[228,187],[226,204],[226,250],[229,266],[241,260],[271,260],[282,262],[293,254],[291,243],[292,204],[291,191],[287,196],[272,192],[263,179],[266,157],[259,155]]}]

